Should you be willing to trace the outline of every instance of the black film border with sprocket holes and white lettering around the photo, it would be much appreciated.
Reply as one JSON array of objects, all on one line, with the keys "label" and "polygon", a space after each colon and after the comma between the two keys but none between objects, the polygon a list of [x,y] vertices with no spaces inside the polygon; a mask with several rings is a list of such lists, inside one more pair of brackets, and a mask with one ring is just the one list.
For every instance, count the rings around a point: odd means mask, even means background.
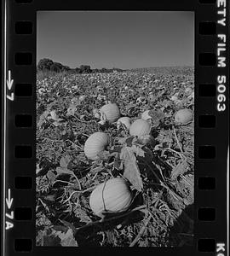
[{"label": "black film border with sprocket holes and white lettering around the photo", "polygon": [[[3,255],[12,255],[16,252],[76,253],[74,247],[38,247],[36,243],[36,42],[37,12],[42,11],[193,12],[195,52],[193,245],[151,246],[148,250],[149,253],[156,255],[228,253],[227,4],[225,1],[187,3],[135,1],[108,4],[105,1],[39,3],[35,0],[3,3]],[[210,90],[213,91],[212,94]],[[26,215],[27,218],[21,219],[20,215],[24,218]],[[214,217],[209,219],[208,215]],[[58,231],[61,233],[62,230]],[[135,237],[138,234],[137,232]],[[85,253],[102,253],[106,250],[105,247],[103,249],[83,247]]]}]

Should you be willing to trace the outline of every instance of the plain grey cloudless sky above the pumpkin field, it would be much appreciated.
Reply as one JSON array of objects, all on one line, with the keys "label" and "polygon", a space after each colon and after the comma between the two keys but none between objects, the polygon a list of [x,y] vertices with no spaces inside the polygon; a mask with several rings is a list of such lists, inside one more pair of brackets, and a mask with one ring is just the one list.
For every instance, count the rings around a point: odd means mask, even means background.
[{"label": "plain grey cloudless sky above the pumpkin field", "polygon": [[37,62],[123,69],[194,65],[193,12],[39,11]]}]

